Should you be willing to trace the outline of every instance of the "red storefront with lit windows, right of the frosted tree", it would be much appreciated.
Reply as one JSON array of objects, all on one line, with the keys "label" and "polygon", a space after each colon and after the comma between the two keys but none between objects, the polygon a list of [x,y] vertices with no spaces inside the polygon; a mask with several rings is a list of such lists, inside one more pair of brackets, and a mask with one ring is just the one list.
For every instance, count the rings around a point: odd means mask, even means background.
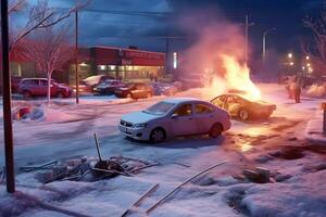
[{"label": "red storefront with lit windows, right of the frosted tree", "polygon": [[[125,81],[150,81],[164,73],[165,53],[122,49],[114,47],[93,47],[84,52],[79,63],[79,80],[91,75],[106,75]],[[75,80],[75,66],[70,67],[70,84]]]}]

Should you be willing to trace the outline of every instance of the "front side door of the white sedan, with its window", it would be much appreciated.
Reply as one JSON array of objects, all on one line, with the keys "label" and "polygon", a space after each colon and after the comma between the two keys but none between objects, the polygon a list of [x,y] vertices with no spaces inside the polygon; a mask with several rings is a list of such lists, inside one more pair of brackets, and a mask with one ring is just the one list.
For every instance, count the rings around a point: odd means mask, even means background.
[{"label": "front side door of the white sedan, with its window", "polygon": [[174,136],[198,133],[197,124],[192,116],[192,104],[179,105],[171,116],[171,128]]}]

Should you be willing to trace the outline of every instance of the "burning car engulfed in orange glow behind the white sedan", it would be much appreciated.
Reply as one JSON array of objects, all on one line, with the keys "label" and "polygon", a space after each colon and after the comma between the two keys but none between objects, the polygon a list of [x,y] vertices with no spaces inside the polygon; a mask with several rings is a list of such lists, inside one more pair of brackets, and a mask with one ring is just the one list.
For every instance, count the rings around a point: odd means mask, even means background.
[{"label": "burning car engulfed in orange glow behind the white sedan", "polygon": [[254,118],[268,118],[276,110],[276,105],[264,101],[250,101],[238,94],[223,94],[211,101],[212,104],[226,110],[230,116],[242,122]]}]

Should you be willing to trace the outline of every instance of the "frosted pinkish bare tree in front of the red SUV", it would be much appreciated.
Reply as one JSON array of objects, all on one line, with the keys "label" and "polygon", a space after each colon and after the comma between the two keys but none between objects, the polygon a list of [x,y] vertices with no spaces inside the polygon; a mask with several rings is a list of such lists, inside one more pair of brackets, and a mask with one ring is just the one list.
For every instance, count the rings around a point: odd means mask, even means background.
[{"label": "frosted pinkish bare tree in front of the red SUV", "polygon": [[34,61],[39,71],[47,75],[48,104],[51,100],[51,77],[53,72],[62,71],[73,59],[74,50],[68,43],[68,28],[54,26],[36,29],[24,41],[23,54]]}]

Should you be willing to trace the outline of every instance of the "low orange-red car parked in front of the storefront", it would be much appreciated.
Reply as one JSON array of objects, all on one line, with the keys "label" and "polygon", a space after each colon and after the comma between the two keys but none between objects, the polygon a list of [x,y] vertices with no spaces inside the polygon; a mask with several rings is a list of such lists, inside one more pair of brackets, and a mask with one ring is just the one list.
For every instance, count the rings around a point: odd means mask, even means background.
[{"label": "low orange-red car parked in front of the storefront", "polygon": [[151,98],[154,94],[154,90],[148,84],[134,82],[128,84],[125,88],[117,88],[114,94],[117,98],[141,99]]}]

